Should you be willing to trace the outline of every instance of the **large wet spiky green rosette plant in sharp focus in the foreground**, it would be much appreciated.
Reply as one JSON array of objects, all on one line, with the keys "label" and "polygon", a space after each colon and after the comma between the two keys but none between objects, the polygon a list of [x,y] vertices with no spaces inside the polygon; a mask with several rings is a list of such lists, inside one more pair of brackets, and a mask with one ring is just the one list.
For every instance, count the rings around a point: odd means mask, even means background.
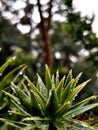
[{"label": "large wet spiky green rosette plant in sharp focus in the foreground", "polygon": [[81,73],[73,78],[72,71],[66,79],[64,76],[60,80],[59,72],[57,71],[56,76],[51,75],[47,65],[46,83],[38,74],[37,77],[36,85],[27,76],[23,76],[20,82],[11,82],[12,94],[3,90],[13,104],[10,113],[17,115],[18,119],[0,118],[1,122],[7,122],[21,130],[71,130],[76,128],[94,130],[88,123],[79,121],[76,117],[98,106],[98,103],[88,104],[97,96],[91,96],[73,104],[77,94],[90,80],[77,84]]}]

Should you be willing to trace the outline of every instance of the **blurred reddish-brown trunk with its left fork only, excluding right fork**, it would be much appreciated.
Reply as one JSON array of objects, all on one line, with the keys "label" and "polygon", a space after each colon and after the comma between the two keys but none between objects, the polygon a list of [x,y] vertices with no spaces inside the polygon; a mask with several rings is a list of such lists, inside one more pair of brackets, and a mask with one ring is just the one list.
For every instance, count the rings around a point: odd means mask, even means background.
[{"label": "blurred reddish-brown trunk with its left fork only, excluding right fork", "polygon": [[51,51],[51,42],[50,42],[50,38],[48,34],[48,29],[45,23],[46,21],[44,20],[43,15],[42,15],[40,0],[38,0],[38,9],[39,9],[40,18],[41,18],[40,30],[41,30],[42,39],[44,42],[44,47],[45,47],[46,64],[49,67],[52,67],[53,57],[52,57],[52,51]]}]

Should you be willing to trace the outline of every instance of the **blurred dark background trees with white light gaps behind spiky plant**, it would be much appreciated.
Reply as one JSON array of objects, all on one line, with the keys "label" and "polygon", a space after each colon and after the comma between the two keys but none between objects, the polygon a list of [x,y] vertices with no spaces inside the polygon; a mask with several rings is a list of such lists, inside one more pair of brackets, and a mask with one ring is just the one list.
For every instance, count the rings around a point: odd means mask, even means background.
[{"label": "blurred dark background trees with white light gaps behind spiky plant", "polygon": [[81,82],[92,81],[78,99],[98,94],[94,17],[82,17],[72,0],[0,0],[0,65],[15,57],[10,68],[27,64],[31,79],[44,74],[45,64],[53,72],[59,69],[61,77],[70,69],[74,76],[82,71]]}]

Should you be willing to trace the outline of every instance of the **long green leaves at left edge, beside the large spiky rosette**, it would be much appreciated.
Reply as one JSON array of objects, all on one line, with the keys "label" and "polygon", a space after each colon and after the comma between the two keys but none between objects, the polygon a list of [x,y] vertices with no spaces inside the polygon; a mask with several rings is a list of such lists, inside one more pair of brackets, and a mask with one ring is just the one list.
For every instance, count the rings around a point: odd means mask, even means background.
[{"label": "long green leaves at left edge, beside the large spiky rosette", "polygon": [[[5,96],[3,93],[3,90],[6,90],[7,92],[11,92],[10,89],[10,83],[11,81],[17,81],[21,78],[21,76],[18,79],[18,76],[20,75],[20,72],[22,72],[26,65],[20,65],[11,71],[7,72],[7,68],[14,62],[15,58],[8,59],[1,67],[0,67],[0,118],[13,118],[9,115],[8,110],[10,107],[12,107],[11,102],[9,101],[8,97]],[[15,76],[16,75],[16,76]],[[15,117],[14,117],[15,118]],[[12,130],[13,128],[10,127]],[[0,123],[0,129],[1,130],[8,130],[9,126],[6,123]],[[15,129],[15,128],[14,128]]]}]

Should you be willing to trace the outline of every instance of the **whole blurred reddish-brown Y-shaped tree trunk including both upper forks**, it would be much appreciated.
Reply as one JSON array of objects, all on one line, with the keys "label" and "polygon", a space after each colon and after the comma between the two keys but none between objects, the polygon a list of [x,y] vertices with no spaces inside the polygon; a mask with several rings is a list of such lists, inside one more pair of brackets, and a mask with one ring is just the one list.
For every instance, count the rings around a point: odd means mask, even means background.
[{"label": "whole blurred reddish-brown Y-shaped tree trunk including both upper forks", "polygon": [[53,56],[52,56],[52,50],[51,50],[51,41],[49,38],[48,30],[51,26],[51,8],[52,8],[52,0],[50,0],[50,8],[49,8],[49,17],[48,20],[46,21],[45,18],[42,15],[42,10],[41,10],[41,4],[40,0],[38,0],[38,9],[39,9],[39,14],[40,14],[40,31],[42,34],[42,39],[44,42],[44,49],[45,49],[45,54],[46,54],[46,64],[49,67],[52,67],[53,65]]}]

